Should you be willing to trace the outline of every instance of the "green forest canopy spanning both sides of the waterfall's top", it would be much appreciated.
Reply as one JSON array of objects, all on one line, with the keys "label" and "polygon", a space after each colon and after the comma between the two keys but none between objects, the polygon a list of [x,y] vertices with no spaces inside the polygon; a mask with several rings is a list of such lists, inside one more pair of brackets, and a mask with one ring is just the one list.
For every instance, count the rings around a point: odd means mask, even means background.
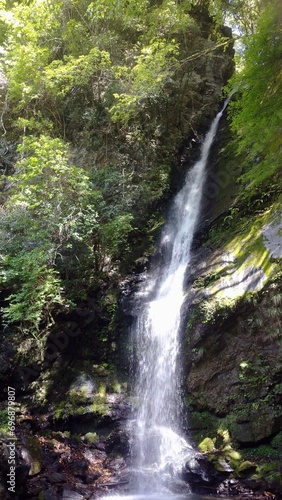
[{"label": "green forest canopy spanning both sides of the waterfall's top", "polygon": [[259,184],[279,169],[279,1],[0,2],[2,312],[40,349],[58,312],[146,259],[223,22],[244,46],[232,128]]}]

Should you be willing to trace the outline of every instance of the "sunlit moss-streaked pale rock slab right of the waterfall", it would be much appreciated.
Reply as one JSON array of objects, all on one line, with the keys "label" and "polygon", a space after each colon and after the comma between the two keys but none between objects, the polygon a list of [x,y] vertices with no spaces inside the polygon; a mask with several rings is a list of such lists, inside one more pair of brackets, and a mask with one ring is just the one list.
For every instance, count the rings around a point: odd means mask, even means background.
[{"label": "sunlit moss-streaked pale rock slab right of the waterfall", "polygon": [[[269,250],[264,245],[262,228],[273,219],[277,213],[279,203],[273,204],[263,213],[250,218],[240,217],[237,212],[234,216],[232,228],[227,229],[225,224],[215,224],[210,233],[213,233],[209,244],[220,248],[221,255],[226,259],[218,257],[218,253],[211,254],[206,265],[206,270],[196,278],[194,288],[205,289],[208,298],[202,298],[199,304],[192,310],[187,323],[187,330],[193,330],[199,323],[214,324],[218,320],[224,320],[237,308],[242,298],[247,301],[255,300],[260,290],[270,286],[281,275],[281,259],[270,256]],[[257,289],[249,291],[244,284],[244,276],[249,270],[256,269],[261,272]],[[209,270],[209,272],[206,272]],[[279,288],[279,284],[275,285]],[[279,298],[279,290],[275,293],[275,299]],[[273,294],[272,294],[273,295]],[[270,294],[270,297],[272,297]],[[271,298],[272,300],[272,298]],[[274,317],[278,314],[278,306],[273,303],[272,309],[264,307],[265,313]],[[276,312],[275,312],[276,310]],[[263,321],[262,315],[258,318]],[[271,320],[271,318],[270,318]],[[248,321],[256,322],[253,315]],[[262,325],[254,325],[262,327]],[[268,329],[267,329],[268,331]],[[279,337],[281,328],[272,328],[269,334]]]}]

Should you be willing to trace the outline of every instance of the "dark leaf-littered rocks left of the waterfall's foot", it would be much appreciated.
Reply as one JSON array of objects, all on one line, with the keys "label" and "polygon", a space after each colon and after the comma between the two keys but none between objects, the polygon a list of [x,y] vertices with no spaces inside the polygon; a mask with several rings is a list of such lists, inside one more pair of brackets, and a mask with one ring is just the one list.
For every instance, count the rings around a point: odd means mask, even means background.
[{"label": "dark leaf-littered rocks left of the waterfall's foot", "polygon": [[[82,425],[83,417],[81,420]],[[98,498],[112,489],[123,491],[128,484],[125,471],[128,436],[117,420],[111,422],[112,429],[111,426],[100,429],[95,443],[80,434],[51,431],[47,415],[40,421],[35,419],[32,426],[31,422],[31,419],[28,424],[27,419],[17,422],[17,498]],[[5,441],[0,440],[0,498],[10,500],[14,496],[7,490],[5,449]]]}]

